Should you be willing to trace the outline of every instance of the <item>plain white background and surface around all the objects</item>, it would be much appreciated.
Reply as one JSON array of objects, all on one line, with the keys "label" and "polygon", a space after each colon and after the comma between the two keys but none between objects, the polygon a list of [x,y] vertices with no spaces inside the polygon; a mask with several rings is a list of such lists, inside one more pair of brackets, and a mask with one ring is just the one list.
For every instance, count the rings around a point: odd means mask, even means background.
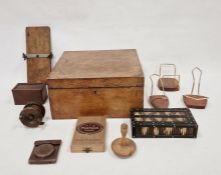
[{"label": "plain white background and surface around all the objects", "polygon": [[[218,175],[220,156],[220,0],[0,0],[0,174],[2,175]],[[192,110],[199,124],[197,139],[134,139],[137,152],[122,160],[110,144],[120,136],[122,122],[108,119],[106,152],[70,153],[76,120],[51,120],[25,128],[18,120],[23,106],[15,106],[11,89],[26,82],[25,27],[51,27],[53,65],[64,50],[136,48],[146,76],[145,107],[150,92],[148,76],[160,63],[174,63],[181,90],[167,93],[170,107],[184,107],[182,95],[191,90],[191,70],[203,70],[201,94],[209,96],[205,110]],[[129,133],[131,136],[131,133]],[[62,139],[53,165],[29,165],[38,139]]]}]

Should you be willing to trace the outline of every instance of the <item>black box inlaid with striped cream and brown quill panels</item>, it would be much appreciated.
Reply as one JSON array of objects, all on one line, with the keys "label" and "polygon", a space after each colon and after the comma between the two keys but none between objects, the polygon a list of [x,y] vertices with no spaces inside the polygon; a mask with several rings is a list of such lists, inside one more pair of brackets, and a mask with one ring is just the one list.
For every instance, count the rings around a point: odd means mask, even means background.
[{"label": "black box inlaid with striped cream and brown quill panels", "polygon": [[134,138],[196,138],[198,125],[188,108],[134,109]]}]

